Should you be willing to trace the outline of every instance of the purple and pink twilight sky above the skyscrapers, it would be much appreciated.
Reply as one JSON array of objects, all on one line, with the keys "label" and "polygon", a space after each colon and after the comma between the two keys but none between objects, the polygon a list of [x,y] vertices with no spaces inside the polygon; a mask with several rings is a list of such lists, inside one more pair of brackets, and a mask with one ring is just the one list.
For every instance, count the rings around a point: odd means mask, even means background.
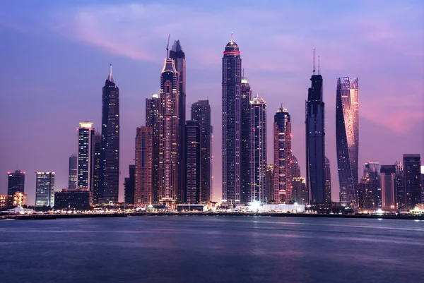
[{"label": "purple and pink twilight sky above the skyscrapers", "polygon": [[[279,3],[282,2],[282,3]],[[113,65],[119,87],[119,183],[133,164],[145,100],[159,91],[168,34],[187,61],[187,117],[208,99],[213,126],[213,200],[221,199],[221,76],[225,44],[240,47],[253,94],[267,102],[268,163],[273,114],[292,121],[293,154],[305,176],[305,100],[312,49],[324,78],[326,155],[338,201],[336,78],[359,81],[359,172],[368,161],[394,164],[424,156],[423,1],[51,1],[1,2],[0,194],[7,171],[26,172],[28,204],[35,172],[55,171],[68,185],[78,123],[100,128],[102,86]],[[123,185],[119,198],[123,200]]]}]

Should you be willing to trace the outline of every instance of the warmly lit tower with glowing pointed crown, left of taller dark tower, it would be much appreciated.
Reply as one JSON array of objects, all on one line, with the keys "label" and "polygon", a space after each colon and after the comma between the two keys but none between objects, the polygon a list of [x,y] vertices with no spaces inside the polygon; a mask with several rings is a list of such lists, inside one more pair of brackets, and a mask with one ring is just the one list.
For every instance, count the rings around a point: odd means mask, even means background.
[{"label": "warmly lit tower with glowing pointed crown, left of taller dark tower", "polygon": [[[179,84],[174,60],[165,59],[160,74],[159,107],[159,202],[175,206],[179,189]],[[181,120],[183,121],[183,120]]]}]

